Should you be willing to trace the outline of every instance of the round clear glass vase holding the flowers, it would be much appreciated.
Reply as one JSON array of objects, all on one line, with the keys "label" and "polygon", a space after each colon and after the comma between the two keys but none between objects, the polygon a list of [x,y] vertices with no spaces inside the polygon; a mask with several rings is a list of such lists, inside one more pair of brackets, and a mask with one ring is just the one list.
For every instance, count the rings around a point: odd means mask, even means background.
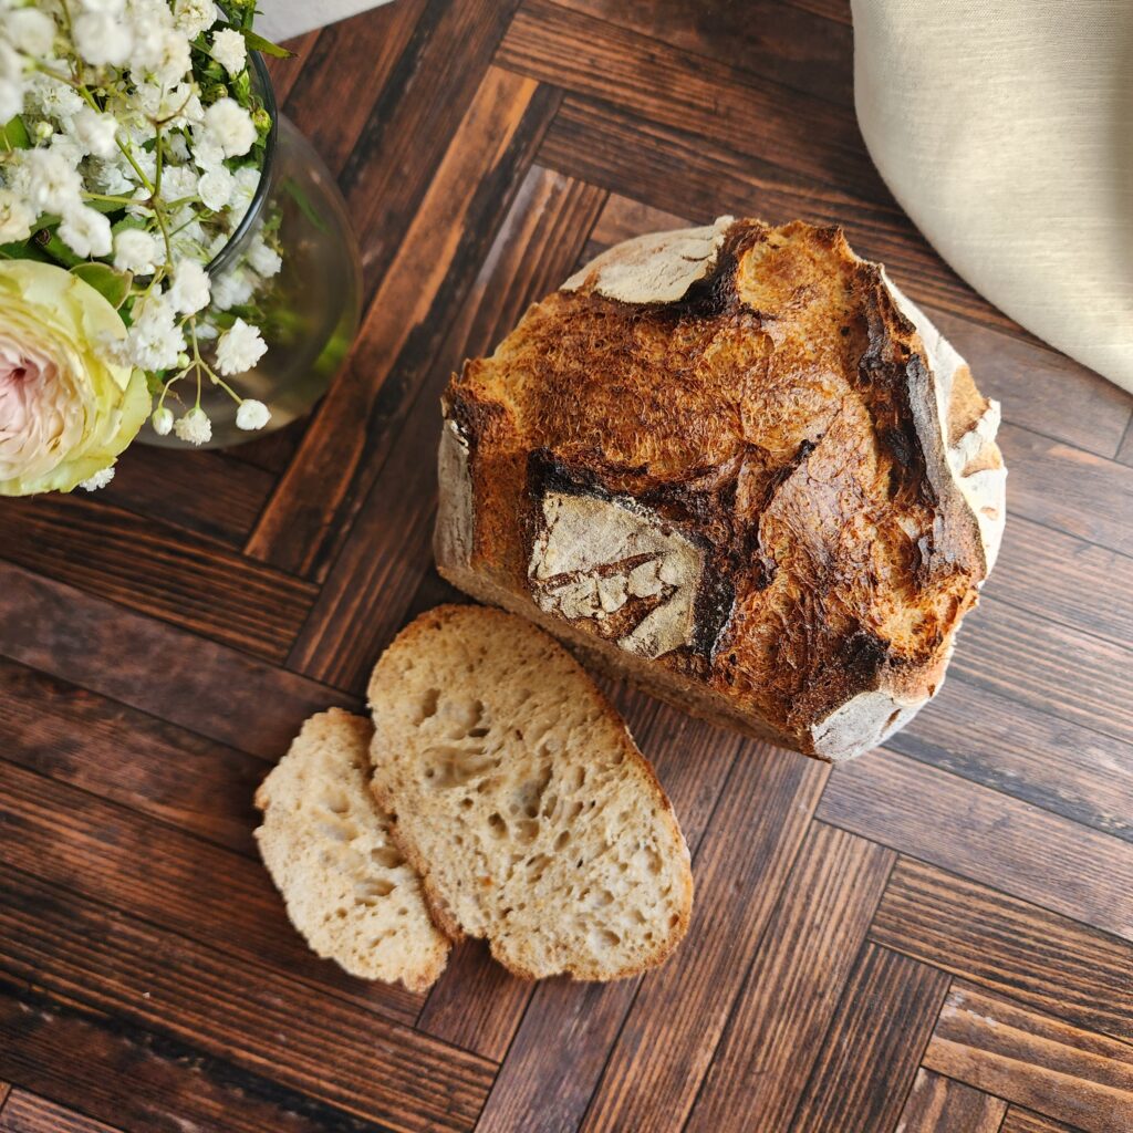
[{"label": "round clear glass vase holding the flowers", "polygon": [[[227,378],[242,398],[263,401],[271,419],[263,429],[237,428],[236,401],[205,378],[201,407],[212,420],[212,440],[191,445],[148,425],[138,441],[173,449],[222,449],[274,432],[301,417],[323,395],[358,332],[361,263],[342,194],[322,157],[295,125],[275,109],[267,69],[252,56],[256,86],[272,116],[259,185],[231,239],[208,264],[214,292],[244,270],[265,222],[276,223],[282,265],[255,293],[257,325],[267,344],[254,369]],[[249,320],[250,321],[250,320]],[[203,342],[211,356],[211,343]],[[165,399],[179,416],[196,397],[188,381]]]}]

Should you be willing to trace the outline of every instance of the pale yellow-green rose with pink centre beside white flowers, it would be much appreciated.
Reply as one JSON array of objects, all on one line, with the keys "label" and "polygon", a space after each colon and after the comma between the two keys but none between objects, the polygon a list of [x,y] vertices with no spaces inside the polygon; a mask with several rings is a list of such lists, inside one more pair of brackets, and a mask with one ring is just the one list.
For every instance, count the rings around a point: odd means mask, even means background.
[{"label": "pale yellow-green rose with pink centre beside white flowers", "polygon": [[0,262],[0,495],[69,492],[109,467],[150,412],[145,375],[109,361],[126,327],[70,272]]}]

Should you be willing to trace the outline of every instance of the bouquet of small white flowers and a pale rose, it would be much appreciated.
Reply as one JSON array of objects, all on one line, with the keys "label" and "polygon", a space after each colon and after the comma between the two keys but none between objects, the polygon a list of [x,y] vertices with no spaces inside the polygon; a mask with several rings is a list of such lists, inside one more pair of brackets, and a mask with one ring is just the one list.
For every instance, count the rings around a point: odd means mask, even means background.
[{"label": "bouquet of small white flowers and a pale rose", "polygon": [[[0,495],[93,489],[150,417],[206,443],[282,263],[254,0],[0,0]],[[270,103],[269,103],[270,104]],[[237,270],[210,273],[246,220]],[[230,258],[230,257],[228,257]]]}]

